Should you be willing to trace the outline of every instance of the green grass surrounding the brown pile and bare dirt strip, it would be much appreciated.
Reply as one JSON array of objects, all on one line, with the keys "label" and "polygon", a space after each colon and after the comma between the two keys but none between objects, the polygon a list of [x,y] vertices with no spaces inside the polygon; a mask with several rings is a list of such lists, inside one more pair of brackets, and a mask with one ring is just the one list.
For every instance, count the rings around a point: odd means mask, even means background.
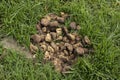
[{"label": "green grass surrounding the brown pile and bare dirt strip", "polygon": [[[0,0],[0,38],[13,36],[29,48],[36,23],[48,13],[64,11],[70,21],[88,35],[95,53],[80,57],[67,75],[56,73],[51,64],[32,60],[7,50],[0,60],[0,80],[120,80],[120,1],[118,0]],[[3,53],[0,47],[0,54]]]}]

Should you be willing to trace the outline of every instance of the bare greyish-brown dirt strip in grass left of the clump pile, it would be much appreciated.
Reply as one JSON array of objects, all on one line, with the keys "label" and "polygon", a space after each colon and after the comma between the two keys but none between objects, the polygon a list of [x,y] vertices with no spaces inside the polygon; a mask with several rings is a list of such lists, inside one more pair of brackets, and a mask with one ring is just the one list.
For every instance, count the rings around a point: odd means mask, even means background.
[{"label": "bare greyish-brown dirt strip in grass left of the clump pile", "polygon": [[32,58],[32,54],[30,53],[30,51],[25,49],[25,47],[22,47],[20,44],[17,43],[17,41],[15,41],[11,37],[3,38],[0,41],[0,44],[2,44],[3,48],[5,49],[16,51],[21,55],[25,55],[26,58]]}]

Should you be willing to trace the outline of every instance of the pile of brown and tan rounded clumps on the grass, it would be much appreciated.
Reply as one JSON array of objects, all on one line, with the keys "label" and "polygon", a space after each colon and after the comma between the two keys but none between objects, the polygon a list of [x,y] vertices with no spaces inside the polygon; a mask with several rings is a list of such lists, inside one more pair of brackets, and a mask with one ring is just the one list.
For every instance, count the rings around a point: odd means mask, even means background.
[{"label": "pile of brown and tan rounded clumps on the grass", "polygon": [[44,60],[50,61],[56,71],[69,71],[71,65],[79,56],[91,53],[91,41],[88,36],[77,33],[81,29],[76,22],[65,26],[69,15],[61,12],[60,15],[47,14],[37,24],[37,33],[31,35],[30,51],[35,54],[43,51]]}]

